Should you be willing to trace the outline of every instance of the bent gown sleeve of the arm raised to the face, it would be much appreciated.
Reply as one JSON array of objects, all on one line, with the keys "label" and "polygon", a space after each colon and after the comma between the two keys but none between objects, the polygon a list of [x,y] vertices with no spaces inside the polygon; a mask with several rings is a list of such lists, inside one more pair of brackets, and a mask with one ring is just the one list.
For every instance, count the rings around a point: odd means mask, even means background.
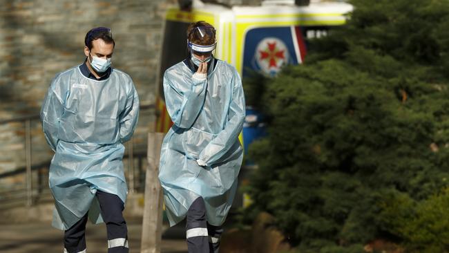
[{"label": "bent gown sleeve of the arm raised to the face", "polygon": [[191,78],[191,84],[180,83],[182,77],[164,74],[166,109],[177,127],[189,129],[204,104],[207,79]]}]

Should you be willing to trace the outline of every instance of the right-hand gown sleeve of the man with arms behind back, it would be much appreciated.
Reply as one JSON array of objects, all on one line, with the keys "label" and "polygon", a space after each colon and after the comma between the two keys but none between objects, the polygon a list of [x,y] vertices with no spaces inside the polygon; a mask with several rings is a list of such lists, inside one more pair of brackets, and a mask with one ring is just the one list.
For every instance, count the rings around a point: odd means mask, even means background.
[{"label": "right-hand gown sleeve of the man with arms behind back", "polygon": [[120,113],[120,142],[127,142],[131,139],[137,120],[139,119],[139,96],[131,82],[131,91],[126,97],[125,109]]}]

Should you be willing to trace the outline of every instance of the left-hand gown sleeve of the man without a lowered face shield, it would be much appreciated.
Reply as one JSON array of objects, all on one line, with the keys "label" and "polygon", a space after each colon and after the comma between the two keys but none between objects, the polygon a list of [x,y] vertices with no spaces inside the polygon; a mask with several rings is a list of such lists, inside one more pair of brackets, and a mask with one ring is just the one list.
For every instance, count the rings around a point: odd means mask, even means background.
[{"label": "left-hand gown sleeve of the man without a lowered face shield", "polygon": [[41,122],[45,138],[53,151],[56,151],[59,129],[59,119],[64,113],[64,103],[66,100],[66,93],[59,78],[55,77],[48,88],[48,92],[41,107]]}]

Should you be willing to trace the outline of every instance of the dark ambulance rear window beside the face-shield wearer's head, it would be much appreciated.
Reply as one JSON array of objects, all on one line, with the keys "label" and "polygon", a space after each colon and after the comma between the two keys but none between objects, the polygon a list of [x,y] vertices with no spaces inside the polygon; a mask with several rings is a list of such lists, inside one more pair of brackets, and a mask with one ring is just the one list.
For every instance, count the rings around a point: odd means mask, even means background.
[{"label": "dark ambulance rear window beside the face-shield wearer's head", "polygon": [[187,57],[187,27],[189,23],[180,21],[169,21],[165,23],[164,43],[162,44],[162,55],[160,65],[159,92],[164,98],[162,81],[167,68],[181,62]]}]

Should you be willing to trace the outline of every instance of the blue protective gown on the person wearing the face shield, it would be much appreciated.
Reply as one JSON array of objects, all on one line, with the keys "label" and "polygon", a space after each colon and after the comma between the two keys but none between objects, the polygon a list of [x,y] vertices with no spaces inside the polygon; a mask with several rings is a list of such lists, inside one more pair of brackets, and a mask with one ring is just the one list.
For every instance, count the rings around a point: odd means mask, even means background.
[{"label": "blue protective gown on the person wearing the face shield", "polygon": [[[203,80],[193,78],[187,61],[164,73],[166,108],[174,124],[162,143],[159,179],[170,225],[182,221],[200,196],[207,221],[222,225],[236,193],[245,97],[236,69],[218,59],[214,64]],[[198,159],[207,166],[200,167]]]}]

